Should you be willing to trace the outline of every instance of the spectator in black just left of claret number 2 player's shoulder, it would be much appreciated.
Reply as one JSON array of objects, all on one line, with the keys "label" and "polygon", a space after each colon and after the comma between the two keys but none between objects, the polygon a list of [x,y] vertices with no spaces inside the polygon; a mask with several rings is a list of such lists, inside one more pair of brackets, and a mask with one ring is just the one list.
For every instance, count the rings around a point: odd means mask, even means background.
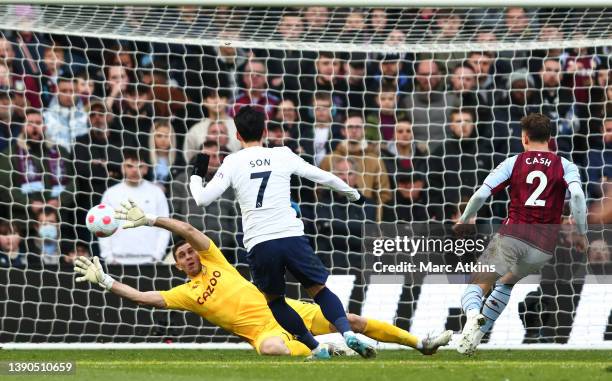
[{"label": "spectator in black just left of claret number 2 player's shoulder", "polygon": [[449,137],[429,158],[429,200],[438,221],[450,220],[492,169],[490,151],[479,145],[470,112],[453,109]]}]

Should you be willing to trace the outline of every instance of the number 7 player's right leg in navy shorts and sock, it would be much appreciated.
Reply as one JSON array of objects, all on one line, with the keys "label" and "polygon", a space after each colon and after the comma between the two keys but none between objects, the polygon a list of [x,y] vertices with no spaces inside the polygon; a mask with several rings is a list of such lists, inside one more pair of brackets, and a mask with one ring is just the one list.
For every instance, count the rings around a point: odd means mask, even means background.
[{"label": "number 7 player's right leg in navy shorts and sock", "polygon": [[342,334],[346,345],[364,358],[376,356],[374,347],[360,340],[346,317],[342,302],[330,289],[325,287],[329,273],[321,259],[312,251],[308,239],[304,236],[288,240],[291,256],[287,257],[287,269],[306,288],[308,295],[321,307],[323,316]]}]

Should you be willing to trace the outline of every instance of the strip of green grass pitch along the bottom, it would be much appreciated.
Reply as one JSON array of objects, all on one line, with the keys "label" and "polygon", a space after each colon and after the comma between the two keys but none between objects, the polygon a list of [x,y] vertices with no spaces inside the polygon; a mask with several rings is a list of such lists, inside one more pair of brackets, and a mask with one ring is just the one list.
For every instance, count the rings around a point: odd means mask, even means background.
[{"label": "strip of green grass pitch along the bottom", "polygon": [[74,375],[0,376],[2,380],[612,380],[612,351],[454,351],[424,357],[416,351],[381,351],[310,363],[261,357],[245,350],[0,350],[0,361],[76,361]]}]

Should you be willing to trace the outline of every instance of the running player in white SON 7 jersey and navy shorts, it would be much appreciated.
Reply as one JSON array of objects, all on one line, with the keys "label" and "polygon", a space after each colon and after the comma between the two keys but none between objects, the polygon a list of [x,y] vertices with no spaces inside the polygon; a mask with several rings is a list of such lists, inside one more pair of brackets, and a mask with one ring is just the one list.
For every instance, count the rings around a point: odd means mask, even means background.
[{"label": "running player in white SON 7 jersey and navy shorts", "polygon": [[266,123],[263,112],[243,106],[234,122],[243,149],[225,158],[206,187],[202,186],[202,177],[197,172],[191,176],[192,196],[198,205],[205,207],[228,187],[234,189],[242,211],[244,246],[253,282],[266,296],[277,322],[308,346],[313,358],[329,358],[329,353],[286,303],[286,270],[300,281],[351,349],[362,357],[374,357],[374,348],[351,331],[342,303],[325,287],[329,273],[314,254],[304,236],[304,224],[291,207],[291,175],[328,186],[351,201],[360,198],[359,192],[337,176],[306,163],[287,147],[263,147]]}]

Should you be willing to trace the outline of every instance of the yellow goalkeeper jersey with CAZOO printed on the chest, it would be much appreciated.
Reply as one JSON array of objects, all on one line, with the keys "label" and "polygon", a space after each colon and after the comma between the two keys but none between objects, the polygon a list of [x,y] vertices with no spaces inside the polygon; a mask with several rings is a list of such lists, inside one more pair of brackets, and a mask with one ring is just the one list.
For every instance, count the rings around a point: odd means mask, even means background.
[{"label": "yellow goalkeeper jersey with CAZOO printed on the chest", "polygon": [[160,291],[166,307],[191,311],[253,343],[274,320],[261,292],[232,266],[210,241],[198,253],[202,272],[188,283]]}]

